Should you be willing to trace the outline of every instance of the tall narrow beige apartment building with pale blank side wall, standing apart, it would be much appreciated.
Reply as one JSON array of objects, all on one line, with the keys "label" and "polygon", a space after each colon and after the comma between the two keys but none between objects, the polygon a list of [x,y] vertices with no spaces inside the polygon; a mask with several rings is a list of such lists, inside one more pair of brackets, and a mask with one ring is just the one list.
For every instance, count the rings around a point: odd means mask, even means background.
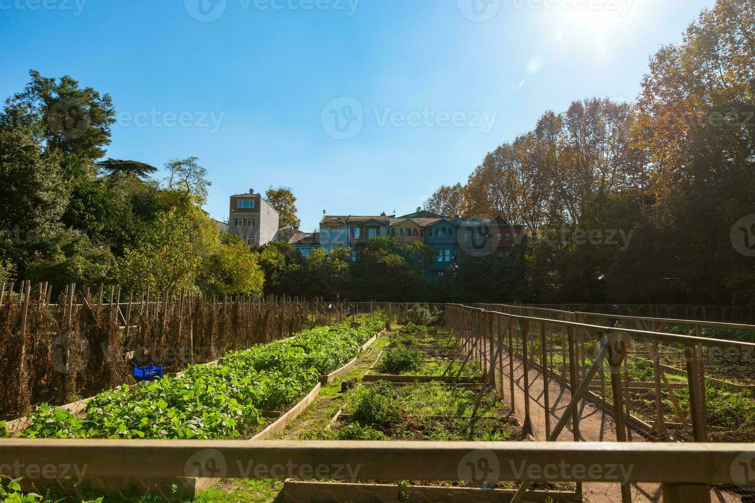
[{"label": "tall narrow beige apartment building with pale blank side wall, standing apart", "polygon": [[259,194],[250,190],[247,194],[230,197],[228,233],[242,237],[249,246],[260,246],[276,239],[280,216]]}]

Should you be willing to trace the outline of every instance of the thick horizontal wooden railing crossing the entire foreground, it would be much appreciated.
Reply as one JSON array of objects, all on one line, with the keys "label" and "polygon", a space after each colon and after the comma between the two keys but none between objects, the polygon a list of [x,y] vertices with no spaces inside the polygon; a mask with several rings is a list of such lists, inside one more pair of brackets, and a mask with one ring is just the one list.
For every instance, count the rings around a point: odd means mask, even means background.
[{"label": "thick horizontal wooden railing crossing the entire foreground", "polygon": [[0,475],[661,483],[695,503],[751,483],[750,444],[248,440],[0,440]]}]

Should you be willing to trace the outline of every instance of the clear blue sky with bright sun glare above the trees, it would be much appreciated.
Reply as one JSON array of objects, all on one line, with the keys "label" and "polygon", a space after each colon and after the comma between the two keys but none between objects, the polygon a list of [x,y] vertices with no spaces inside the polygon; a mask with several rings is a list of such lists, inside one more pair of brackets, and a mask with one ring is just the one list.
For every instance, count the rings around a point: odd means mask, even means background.
[{"label": "clear blue sky with bright sun glare above the trees", "polygon": [[572,100],[633,100],[713,0],[0,0],[0,97],[29,69],[109,93],[108,155],[196,155],[228,196],[291,186],[304,229],[409,213]]}]

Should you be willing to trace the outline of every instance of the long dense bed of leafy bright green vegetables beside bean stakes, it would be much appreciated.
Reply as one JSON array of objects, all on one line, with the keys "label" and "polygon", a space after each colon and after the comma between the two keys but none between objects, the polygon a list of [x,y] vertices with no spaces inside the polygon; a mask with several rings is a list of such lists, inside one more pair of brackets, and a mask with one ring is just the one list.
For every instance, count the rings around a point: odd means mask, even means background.
[{"label": "long dense bed of leafy bright green vegetables beside bean stakes", "polygon": [[239,437],[263,422],[260,411],[281,410],[311,391],[319,376],[353,359],[384,319],[319,327],[293,339],[228,355],[217,367],[190,367],[179,379],[141,382],[100,393],[79,416],[47,404],[32,414],[21,437]]}]

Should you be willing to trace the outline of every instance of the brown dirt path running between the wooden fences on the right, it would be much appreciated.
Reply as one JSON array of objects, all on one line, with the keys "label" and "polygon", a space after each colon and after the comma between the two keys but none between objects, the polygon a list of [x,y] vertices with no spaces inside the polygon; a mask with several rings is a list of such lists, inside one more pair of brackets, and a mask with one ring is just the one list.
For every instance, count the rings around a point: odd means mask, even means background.
[{"label": "brown dirt path running between the wooden fences on the right", "polygon": [[[514,395],[510,391],[510,360],[509,354],[501,356],[504,363],[504,397],[508,403],[513,403],[514,413],[522,423],[525,420],[525,391],[524,391],[524,366],[520,357],[513,359]],[[545,429],[545,400],[544,382],[540,370],[529,370],[529,407],[530,422],[532,422],[532,434],[536,440],[546,440]],[[563,416],[566,406],[572,398],[569,388],[561,385],[556,380],[548,382],[548,397],[550,401],[550,428],[554,428]],[[646,442],[648,439],[632,428],[627,428],[627,440],[630,442]],[[611,413],[604,412],[592,403],[582,400],[579,408],[579,439],[584,442],[615,442],[616,422]],[[559,434],[560,442],[574,440],[574,430],[571,419],[564,430]],[[587,483],[583,487],[586,501],[590,503],[615,503],[621,501],[621,486],[618,483]],[[662,501],[661,486],[659,484],[633,484],[633,501]],[[732,495],[722,494],[717,490],[711,491],[712,501],[740,501]]]}]

